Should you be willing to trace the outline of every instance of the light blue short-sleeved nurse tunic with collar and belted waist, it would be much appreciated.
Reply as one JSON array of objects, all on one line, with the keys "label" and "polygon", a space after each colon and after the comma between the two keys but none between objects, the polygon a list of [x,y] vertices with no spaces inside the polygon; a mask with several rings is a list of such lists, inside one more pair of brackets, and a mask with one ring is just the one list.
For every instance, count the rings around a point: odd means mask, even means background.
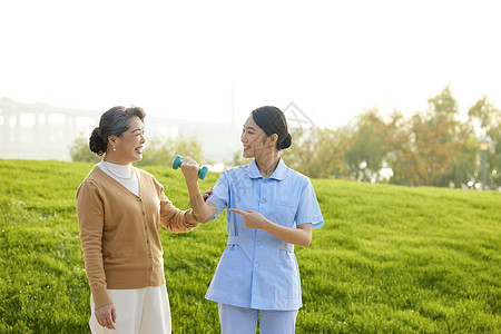
[{"label": "light blue short-sleeved nurse tunic with collar and belted waist", "polygon": [[[256,210],[286,227],[324,225],[312,183],[285,166],[282,158],[269,178],[259,174],[254,159],[225,170],[207,200],[217,208],[215,217],[225,208],[237,208]],[[255,310],[299,308],[301,279],[294,245],[267,232],[247,228],[244,217],[236,213],[227,212],[226,222],[228,244],[205,297]]]}]

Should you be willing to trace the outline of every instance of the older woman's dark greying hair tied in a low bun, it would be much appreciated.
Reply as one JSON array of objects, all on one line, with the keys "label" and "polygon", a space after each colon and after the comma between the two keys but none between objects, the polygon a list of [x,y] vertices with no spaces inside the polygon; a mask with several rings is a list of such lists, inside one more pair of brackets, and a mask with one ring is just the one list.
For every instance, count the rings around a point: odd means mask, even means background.
[{"label": "older woman's dark greying hair tied in a low bun", "polygon": [[89,138],[89,148],[98,156],[102,156],[108,148],[108,137],[117,136],[129,129],[129,120],[132,117],[139,117],[141,121],[145,121],[146,114],[143,108],[139,107],[114,107],[102,114],[99,120],[99,127],[92,130]]}]

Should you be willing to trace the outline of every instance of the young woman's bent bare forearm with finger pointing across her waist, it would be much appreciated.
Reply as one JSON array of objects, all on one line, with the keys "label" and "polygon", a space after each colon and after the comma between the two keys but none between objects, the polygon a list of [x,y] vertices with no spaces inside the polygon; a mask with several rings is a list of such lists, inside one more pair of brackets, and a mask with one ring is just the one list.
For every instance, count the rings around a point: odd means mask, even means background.
[{"label": "young woman's bent bare forearm with finger pointing across her waist", "polygon": [[312,224],[302,224],[294,227],[285,227],[266,219],[262,214],[254,210],[239,210],[228,208],[228,212],[237,213],[244,216],[247,228],[258,228],[283,239],[289,244],[307,247],[312,242]]}]

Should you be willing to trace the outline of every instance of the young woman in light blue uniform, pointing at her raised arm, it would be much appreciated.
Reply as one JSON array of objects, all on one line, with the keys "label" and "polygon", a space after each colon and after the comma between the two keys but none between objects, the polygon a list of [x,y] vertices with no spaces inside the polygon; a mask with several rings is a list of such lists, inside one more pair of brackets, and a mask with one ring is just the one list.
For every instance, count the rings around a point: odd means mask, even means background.
[{"label": "young woman in light blue uniform, pointing at her raised arm", "polygon": [[228,208],[228,244],[206,298],[218,303],[224,334],[255,333],[257,316],[261,333],[294,333],[302,306],[294,245],[307,247],[324,220],[310,179],[281,158],[292,138],[278,108],[254,110],[240,140],[243,156],[254,159],[224,171],[206,202],[198,164],[186,158],[181,165],[200,222]]}]

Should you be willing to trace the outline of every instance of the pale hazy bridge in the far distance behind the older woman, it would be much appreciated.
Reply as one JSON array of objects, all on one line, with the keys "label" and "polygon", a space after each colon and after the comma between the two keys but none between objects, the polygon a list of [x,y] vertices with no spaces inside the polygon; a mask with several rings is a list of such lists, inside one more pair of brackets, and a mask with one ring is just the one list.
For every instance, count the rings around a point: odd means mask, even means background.
[{"label": "pale hazy bridge in the far distance behind the older woman", "polygon": [[[82,134],[98,126],[104,111],[24,104],[0,99],[0,158],[71,160],[70,147]],[[232,122],[208,122],[147,116],[149,138],[195,137],[207,158],[224,163],[238,149],[239,127]],[[215,134],[215,135],[210,135]]]}]

